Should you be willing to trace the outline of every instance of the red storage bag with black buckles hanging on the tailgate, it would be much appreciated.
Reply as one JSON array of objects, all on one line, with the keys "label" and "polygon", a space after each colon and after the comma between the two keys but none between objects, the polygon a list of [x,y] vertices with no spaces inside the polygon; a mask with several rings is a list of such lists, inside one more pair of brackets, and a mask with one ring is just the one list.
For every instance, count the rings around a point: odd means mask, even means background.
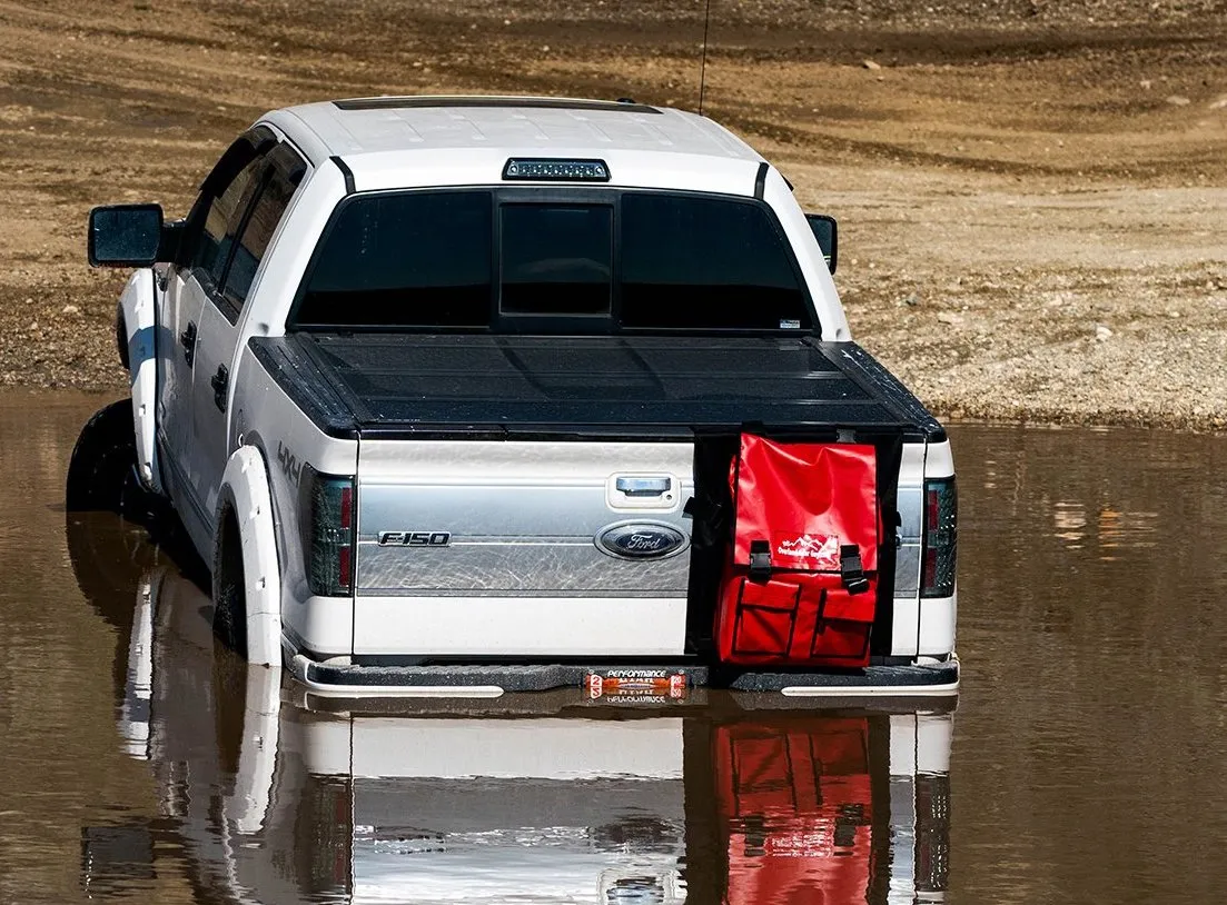
[{"label": "red storage bag with black buckles hanging on the tailgate", "polygon": [[877,597],[877,456],[864,444],[742,435],[733,549],[717,606],[723,662],[869,663]]}]

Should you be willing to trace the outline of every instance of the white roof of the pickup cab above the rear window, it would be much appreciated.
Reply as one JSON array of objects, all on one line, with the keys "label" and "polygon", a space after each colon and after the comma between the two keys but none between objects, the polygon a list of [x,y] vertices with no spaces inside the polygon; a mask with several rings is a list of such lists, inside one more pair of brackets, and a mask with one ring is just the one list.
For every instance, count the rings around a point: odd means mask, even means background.
[{"label": "white roof of the pickup cab above the rear window", "polygon": [[[360,189],[497,183],[509,158],[550,157],[600,158],[612,184],[645,184],[637,175],[645,170],[656,170],[647,180],[652,184],[659,183],[660,170],[688,172],[683,188],[751,194],[752,177],[747,183],[745,172],[753,173],[763,159],[710,119],[633,102],[372,97],[288,107],[261,119],[317,166],[344,161]],[[444,162],[440,180],[436,164]],[[699,184],[693,184],[696,173],[707,174]]]}]

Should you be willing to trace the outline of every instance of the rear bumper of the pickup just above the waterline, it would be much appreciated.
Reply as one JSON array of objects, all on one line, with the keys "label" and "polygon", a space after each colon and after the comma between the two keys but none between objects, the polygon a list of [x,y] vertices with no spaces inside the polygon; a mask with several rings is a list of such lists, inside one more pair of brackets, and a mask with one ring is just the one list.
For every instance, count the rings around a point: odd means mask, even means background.
[{"label": "rear bumper of the pickup just above the waterline", "polygon": [[291,673],[315,695],[330,698],[499,698],[506,693],[583,688],[614,670],[681,673],[691,688],[772,692],[789,698],[940,698],[958,693],[958,657],[940,663],[869,666],[840,672],[736,672],[660,663],[616,667],[572,663],[465,666],[355,666],[296,654]]}]

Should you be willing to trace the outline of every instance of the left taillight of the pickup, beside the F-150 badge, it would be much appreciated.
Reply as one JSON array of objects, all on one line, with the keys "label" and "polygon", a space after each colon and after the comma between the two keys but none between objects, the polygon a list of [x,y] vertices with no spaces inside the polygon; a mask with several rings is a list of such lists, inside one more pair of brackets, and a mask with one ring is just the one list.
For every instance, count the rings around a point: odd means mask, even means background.
[{"label": "left taillight of the pickup, beside the F-150 badge", "polygon": [[310,592],[347,597],[353,594],[353,478],[303,465],[298,502]]}]

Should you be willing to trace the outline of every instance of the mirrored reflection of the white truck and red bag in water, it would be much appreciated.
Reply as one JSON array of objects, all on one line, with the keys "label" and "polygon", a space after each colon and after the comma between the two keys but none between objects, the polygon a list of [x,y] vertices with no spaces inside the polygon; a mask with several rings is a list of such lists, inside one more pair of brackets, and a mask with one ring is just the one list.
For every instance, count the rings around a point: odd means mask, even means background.
[{"label": "mirrored reflection of the white truck and red bag in water", "polygon": [[950,712],[703,690],[339,705],[215,646],[174,567],[135,584],[135,609],[94,602],[126,639],[119,731],[163,817],[82,829],[91,896],[175,860],[201,901],[944,898]]}]

